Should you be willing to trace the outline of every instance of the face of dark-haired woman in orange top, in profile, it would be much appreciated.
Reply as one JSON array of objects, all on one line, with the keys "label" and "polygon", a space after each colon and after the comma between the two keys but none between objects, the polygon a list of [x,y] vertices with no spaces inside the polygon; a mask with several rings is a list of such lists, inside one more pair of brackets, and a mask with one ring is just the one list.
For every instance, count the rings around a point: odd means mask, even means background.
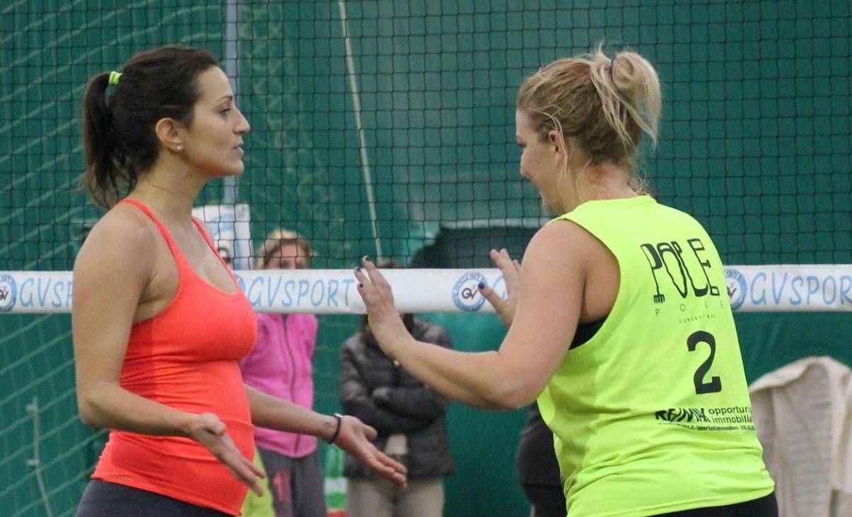
[{"label": "face of dark-haired woman in orange top, in profile", "polygon": [[201,97],[193,106],[193,123],[183,132],[186,158],[212,177],[239,175],[243,164],[243,135],[248,121],[234,104],[225,72],[213,66],[197,78]]}]

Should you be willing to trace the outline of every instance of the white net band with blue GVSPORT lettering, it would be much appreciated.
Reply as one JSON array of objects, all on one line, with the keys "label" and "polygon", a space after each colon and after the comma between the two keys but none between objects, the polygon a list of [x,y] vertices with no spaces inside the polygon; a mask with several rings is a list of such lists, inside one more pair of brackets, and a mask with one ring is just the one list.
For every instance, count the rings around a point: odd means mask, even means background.
[{"label": "white net band with blue GVSPORT lettering", "polygon": [[[477,284],[505,296],[498,269],[389,269],[402,313],[492,312]],[[237,271],[257,312],[364,313],[350,269]],[[852,264],[730,266],[725,281],[739,312],[852,312]],[[0,271],[0,313],[71,312],[70,272]]]}]

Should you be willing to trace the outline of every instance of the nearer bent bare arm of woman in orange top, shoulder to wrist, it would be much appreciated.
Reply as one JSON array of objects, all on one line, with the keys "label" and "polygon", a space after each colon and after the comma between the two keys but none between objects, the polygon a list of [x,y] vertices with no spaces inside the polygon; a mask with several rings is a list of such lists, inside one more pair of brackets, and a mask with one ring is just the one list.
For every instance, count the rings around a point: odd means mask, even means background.
[{"label": "nearer bent bare arm of woman in orange top, shoulder to wrist", "polygon": [[[74,264],[72,328],[80,417],[87,425],[189,436],[194,415],[125,390],[121,366],[136,307],[153,275],[151,235],[127,214],[110,214]],[[133,257],[133,260],[130,260]]]}]

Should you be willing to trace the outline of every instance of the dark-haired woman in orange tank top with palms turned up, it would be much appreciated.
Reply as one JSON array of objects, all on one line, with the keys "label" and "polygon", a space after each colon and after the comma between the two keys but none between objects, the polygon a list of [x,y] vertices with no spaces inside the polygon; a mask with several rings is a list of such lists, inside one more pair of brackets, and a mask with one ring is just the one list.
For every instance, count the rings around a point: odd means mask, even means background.
[{"label": "dark-haired woman in orange tank top with palms turned up", "polygon": [[255,317],[191,214],[207,181],[243,172],[249,129],[201,49],[149,50],[89,81],[83,185],[109,210],[74,265],[73,341],[80,416],[111,432],[81,517],[239,514],[262,491],[254,425],[313,434],[405,483],[357,418],[242,382]]}]

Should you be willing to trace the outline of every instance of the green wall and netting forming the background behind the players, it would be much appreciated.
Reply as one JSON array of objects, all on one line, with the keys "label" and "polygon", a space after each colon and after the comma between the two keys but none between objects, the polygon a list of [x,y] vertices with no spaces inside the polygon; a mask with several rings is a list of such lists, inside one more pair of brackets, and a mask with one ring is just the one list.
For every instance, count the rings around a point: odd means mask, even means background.
[{"label": "green wall and netting forming the background behind the players", "polygon": [[[838,0],[9,0],[0,5],[0,270],[72,267],[100,215],[74,190],[83,84],[165,43],[222,58],[253,126],[245,175],[235,188],[210,184],[200,202],[250,204],[256,239],[298,230],[318,252],[315,267],[350,267],[377,243],[384,256],[435,267],[482,265],[484,250],[507,239],[520,251],[543,214],[517,175],[515,89],[600,41],[658,66],[661,141],[644,169],[663,202],[705,223],[724,261],[849,263],[849,9]],[[493,333],[487,317],[437,318],[460,345]],[[838,328],[822,318],[793,328]],[[337,407],[337,347],[354,322],[321,322],[324,411]],[[27,464],[34,397],[53,514],[73,514],[97,457],[102,435],[76,416],[69,330],[67,316],[0,315],[2,514],[47,514]],[[459,468],[448,515],[526,512],[512,471],[521,419],[453,408]]]}]

